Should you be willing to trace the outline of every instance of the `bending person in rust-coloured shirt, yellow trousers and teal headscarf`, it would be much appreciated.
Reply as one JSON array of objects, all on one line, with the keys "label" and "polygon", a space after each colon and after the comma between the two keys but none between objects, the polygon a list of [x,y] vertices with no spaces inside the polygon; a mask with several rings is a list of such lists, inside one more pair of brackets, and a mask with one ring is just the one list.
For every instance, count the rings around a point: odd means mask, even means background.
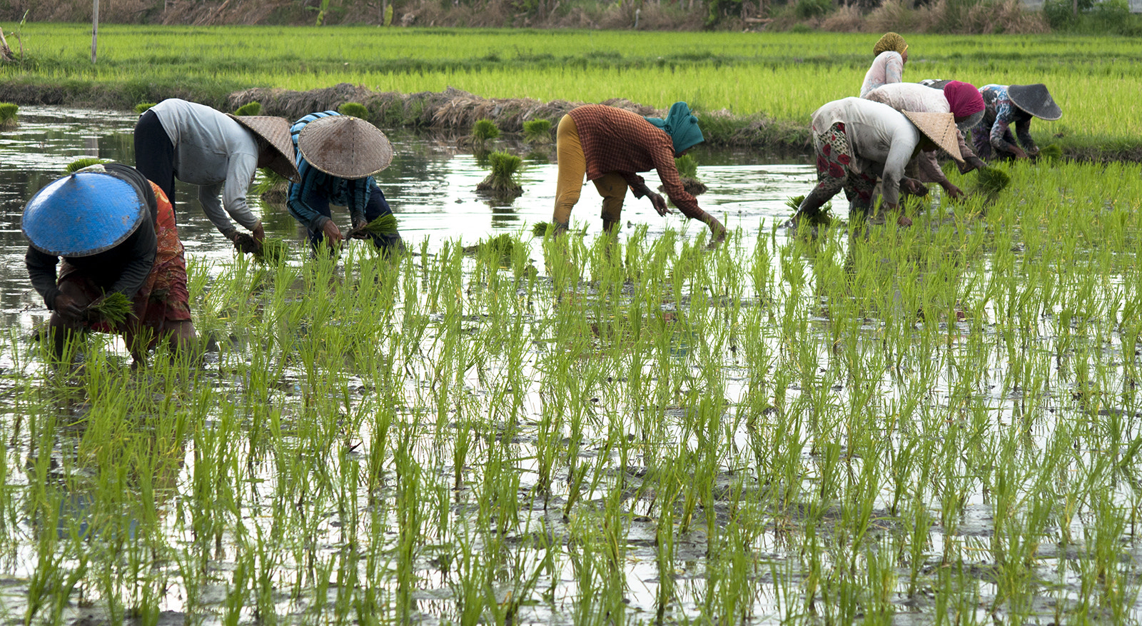
[{"label": "bending person in rust-coloured shirt, yellow trousers and teal headscarf", "polygon": [[619,225],[627,186],[635,198],[649,196],[659,215],[671,212],[662,196],[650,191],[637,171],[658,170],[662,187],[682,214],[708,225],[715,241],[725,239],[725,227],[698,207],[693,195],[682,188],[674,159],[702,142],[698,119],[686,103],[670,107],[666,120],[643,118],[630,111],[586,104],[572,109],[560,120],[556,133],[558,182],[555,186],[553,222],[568,228],[571,209],[579,201],[584,174],[603,196],[603,228]]}]

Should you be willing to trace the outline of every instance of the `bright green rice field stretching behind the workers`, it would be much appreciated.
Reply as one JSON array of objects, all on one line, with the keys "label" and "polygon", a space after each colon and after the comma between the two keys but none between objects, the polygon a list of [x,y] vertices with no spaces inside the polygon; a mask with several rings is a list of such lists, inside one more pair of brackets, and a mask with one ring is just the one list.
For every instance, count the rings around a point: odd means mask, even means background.
[{"label": "bright green rice field stretching behind the workers", "polygon": [[[804,143],[818,106],[856,94],[877,39],[836,33],[108,25],[100,30],[99,62],[93,65],[87,25],[29,24],[24,32],[27,59],[5,66],[0,83],[6,98],[17,104],[131,109],[178,96],[226,109],[232,93],[251,87],[306,91],[346,82],[400,94],[453,87],[485,98],[544,103],[627,98],[665,109],[686,101],[702,115],[713,143],[735,145]],[[908,40],[906,80],[1044,82],[1062,106],[1063,119],[1032,125],[1040,143],[1062,135],[1057,142],[1069,155],[1142,153],[1142,118],[1135,113],[1142,40]],[[316,104],[327,103],[311,101],[309,106]],[[431,126],[424,107],[424,98],[404,98],[400,111],[386,111],[380,121]]]}]

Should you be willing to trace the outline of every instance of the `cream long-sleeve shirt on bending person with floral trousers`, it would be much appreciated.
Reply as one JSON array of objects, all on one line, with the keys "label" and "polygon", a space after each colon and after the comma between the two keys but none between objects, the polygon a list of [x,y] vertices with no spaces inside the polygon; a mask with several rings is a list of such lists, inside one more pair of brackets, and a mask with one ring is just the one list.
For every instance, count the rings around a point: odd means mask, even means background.
[{"label": "cream long-sleeve shirt on bending person with floral trousers", "polygon": [[899,202],[900,180],[919,146],[920,131],[895,109],[862,98],[833,101],[813,112],[813,136],[836,122],[845,123],[845,137],[853,152],[849,168],[879,176],[884,201]]}]

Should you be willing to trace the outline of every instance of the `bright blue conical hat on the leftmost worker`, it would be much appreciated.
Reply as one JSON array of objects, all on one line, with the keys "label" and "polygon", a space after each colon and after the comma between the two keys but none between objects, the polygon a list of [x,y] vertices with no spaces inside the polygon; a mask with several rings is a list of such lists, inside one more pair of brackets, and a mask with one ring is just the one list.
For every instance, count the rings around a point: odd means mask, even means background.
[{"label": "bright blue conical hat on the leftmost worker", "polygon": [[37,250],[86,257],[122,243],[146,215],[146,204],[130,183],[79,171],[37,192],[24,207],[21,230]]}]

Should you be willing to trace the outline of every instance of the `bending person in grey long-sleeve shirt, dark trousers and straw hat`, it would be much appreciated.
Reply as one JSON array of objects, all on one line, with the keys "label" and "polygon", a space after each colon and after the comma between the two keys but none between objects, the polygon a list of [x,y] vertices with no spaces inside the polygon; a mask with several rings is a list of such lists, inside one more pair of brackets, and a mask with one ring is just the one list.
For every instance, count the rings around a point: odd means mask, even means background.
[{"label": "bending person in grey long-sleeve shirt, dark trousers and straw hat", "polygon": [[238,228],[227,212],[256,241],[263,240],[262,220],[250,210],[246,194],[259,167],[297,178],[292,155],[289,122],[282,118],[235,117],[170,98],[148,109],[135,125],[135,167],[162,188],[171,204],[176,177],[198,185],[202,210],[231,241],[236,241]]}]

